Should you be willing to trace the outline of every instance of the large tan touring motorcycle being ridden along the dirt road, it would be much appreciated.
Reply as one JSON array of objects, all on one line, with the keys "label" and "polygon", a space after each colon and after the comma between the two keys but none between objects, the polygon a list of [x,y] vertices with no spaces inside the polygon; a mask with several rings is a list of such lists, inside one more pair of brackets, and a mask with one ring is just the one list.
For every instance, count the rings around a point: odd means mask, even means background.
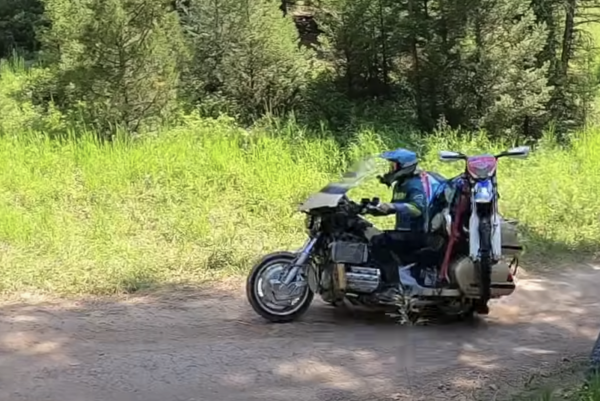
[{"label": "large tan touring motorcycle being ridden along the dirt road", "polygon": [[[444,155],[445,160],[462,157],[459,153]],[[450,255],[448,260],[444,258],[447,264],[444,277],[448,282],[438,280],[439,265],[414,269],[415,263],[400,262],[403,250],[398,250],[394,253],[398,254],[404,295],[394,305],[380,300],[384,283],[370,243],[383,232],[365,218],[379,200],[355,202],[347,196],[348,191],[377,172],[376,160],[376,157],[363,160],[344,174],[342,180],[328,184],[299,206],[298,210],[306,214],[308,239],[304,245],[297,252],[281,251],[264,256],[248,275],[246,296],[257,314],[271,322],[291,322],[308,310],[314,294],[318,294],[334,306],[349,303],[385,311],[413,323],[426,310],[461,318],[473,315],[479,298],[475,264],[468,251],[455,246],[461,244],[460,238],[451,235],[451,229],[460,222],[460,219],[453,220],[451,213],[452,202],[458,199],[455,184],[461,182],[460,178],[446,180],[440,175],[422,174],[423,179],[430,178],[424,182],[431,205],[427,214],[434,216],[431,221],[426,219],[428,231],[432,240],[437,237],[437,242],[443,243],[438,249],[446,253],[440,255],[439,260]],[[517,249],[519,243],[514,227],[500,218],[496,221],[500,221],[506,231],[501,245]],[[514,291],[510,269],[511,266],[500,260],[491,267],[491,298]]]}]

